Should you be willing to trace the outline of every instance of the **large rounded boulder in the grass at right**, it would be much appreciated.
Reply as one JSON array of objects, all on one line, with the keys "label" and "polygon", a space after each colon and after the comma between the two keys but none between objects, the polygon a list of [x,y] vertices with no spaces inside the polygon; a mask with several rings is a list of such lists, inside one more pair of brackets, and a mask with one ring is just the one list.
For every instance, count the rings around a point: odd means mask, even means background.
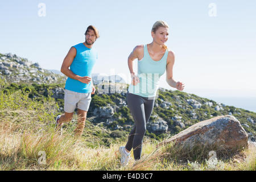
[{"label": "large rounded boulder in the grass at right", "polygon": [[201,121],[164,140],[159,145],[175,142],[185,147],[214,146],[220,149],[247,147],[248,135],[240,122],[232,115],[221,115]]}]

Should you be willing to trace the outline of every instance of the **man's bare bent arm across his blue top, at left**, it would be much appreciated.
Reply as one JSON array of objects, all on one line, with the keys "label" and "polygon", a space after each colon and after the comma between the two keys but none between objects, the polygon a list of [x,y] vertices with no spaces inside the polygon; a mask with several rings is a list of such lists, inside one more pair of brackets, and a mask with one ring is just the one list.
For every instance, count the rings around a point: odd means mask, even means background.
[{"label": "man's bare bent arm across his blue top, at left", "polygon": [[81,77],[79,75],[75,75],[70,69],[70,65],[73,63],[74,58],[76,57],[76,48],[75,47],[71,47],[68,51],[67,56],[64,58],[63,60],[63,64],[61,65],[61,73],[63,73],[64,75],[66,75],[69,78],[72,78],[74,80],[78,80],[81,81],[85,84],[89,84],[91,78],[88,76],[85,77]]}]

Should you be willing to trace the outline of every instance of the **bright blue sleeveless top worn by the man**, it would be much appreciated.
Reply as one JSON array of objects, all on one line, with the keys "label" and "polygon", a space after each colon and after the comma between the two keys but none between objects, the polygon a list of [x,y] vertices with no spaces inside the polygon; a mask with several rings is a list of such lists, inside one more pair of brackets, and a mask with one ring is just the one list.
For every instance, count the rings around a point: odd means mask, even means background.
[{"label": "bright blue sleeveless top worn by the man", "polygon": [[[76,57],[74,58],[70,70],[79,76],[89,76],[92,78],[93,65],[98,59],[98,53],[93,48],[84,46],[83,43],[72,46],[76,48]],[[78,80],[72,78],[67,79],[65,89],[79,93],[90,93],[92,92],[91,82],[84,84]]]}]

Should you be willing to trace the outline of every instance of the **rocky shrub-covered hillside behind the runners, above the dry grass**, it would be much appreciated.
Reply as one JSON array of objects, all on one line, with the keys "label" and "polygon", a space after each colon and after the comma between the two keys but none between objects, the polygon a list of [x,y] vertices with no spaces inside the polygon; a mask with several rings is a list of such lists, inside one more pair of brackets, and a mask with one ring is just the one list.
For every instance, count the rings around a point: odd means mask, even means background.
[{"label": "rocky shrub-covered hillside behind the runners, above the dry grass", "polygon": [[[67,77],[56,73],[11,53],[0,54],[0,76],[9,82],[5,90],[14,92],[25,89],[30,91],[30,98],[38,101],[51,95],[59,106],[59,113],[62,113],[64,83]],[[105,81],[102,81],[102,78],[105,78]],[[118,77],[117,82],[111,82],[108,81],[111,80],[110,77],[100,74],[94,74],[93,80],[97,89],[96,94],[92,96],[88,117],[93,117],[93,123],[102,123],[106,129],[128,133],[133,126],[133,118],[126,104],[128,85],[122,82],[122,78]],[[195,94],[160,88],[150,121],[147,123],[146,135],[156,139],[164,138],[177,134],[199,121],[226,114],[234,115],[249,134],[250,140],[255,141],[256,113]]]}]

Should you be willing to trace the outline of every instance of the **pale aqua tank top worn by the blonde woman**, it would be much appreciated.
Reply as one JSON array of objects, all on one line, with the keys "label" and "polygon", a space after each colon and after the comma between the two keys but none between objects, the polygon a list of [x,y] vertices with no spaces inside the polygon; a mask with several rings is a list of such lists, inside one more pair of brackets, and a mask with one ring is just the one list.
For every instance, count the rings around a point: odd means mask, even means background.
[{"label": "pale aqua tank top worn by the blonde woman", "polygon": [[139,83],[137,85],[130,84],[129,93],[137,94],[142,97],[155,97],[159,88],[160,76],[166,71],[168,49],[164,53],[162,59],[154,61],[151,59],[147,44],[144,45],[144,56],[142,60],[138,60]]}]

